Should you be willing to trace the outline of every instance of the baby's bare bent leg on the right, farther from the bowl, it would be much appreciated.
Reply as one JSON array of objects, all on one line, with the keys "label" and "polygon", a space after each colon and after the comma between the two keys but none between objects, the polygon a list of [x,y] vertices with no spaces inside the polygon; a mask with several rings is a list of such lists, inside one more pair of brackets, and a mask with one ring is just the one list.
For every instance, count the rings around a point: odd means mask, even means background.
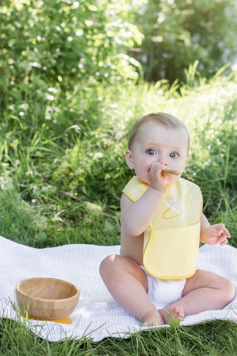
[{"label": "baby's bare bent leg on the right, farther from the bowl", "polygon": [[235,295],[235,287],[226,278],[218,274],[198,269],[196,273],[187,278],[182,299],[159,310],[166,321],[165,309],[179,305],[183,308],[185,316],[198,314],[206,310],[220,310],[231,302]]}]

